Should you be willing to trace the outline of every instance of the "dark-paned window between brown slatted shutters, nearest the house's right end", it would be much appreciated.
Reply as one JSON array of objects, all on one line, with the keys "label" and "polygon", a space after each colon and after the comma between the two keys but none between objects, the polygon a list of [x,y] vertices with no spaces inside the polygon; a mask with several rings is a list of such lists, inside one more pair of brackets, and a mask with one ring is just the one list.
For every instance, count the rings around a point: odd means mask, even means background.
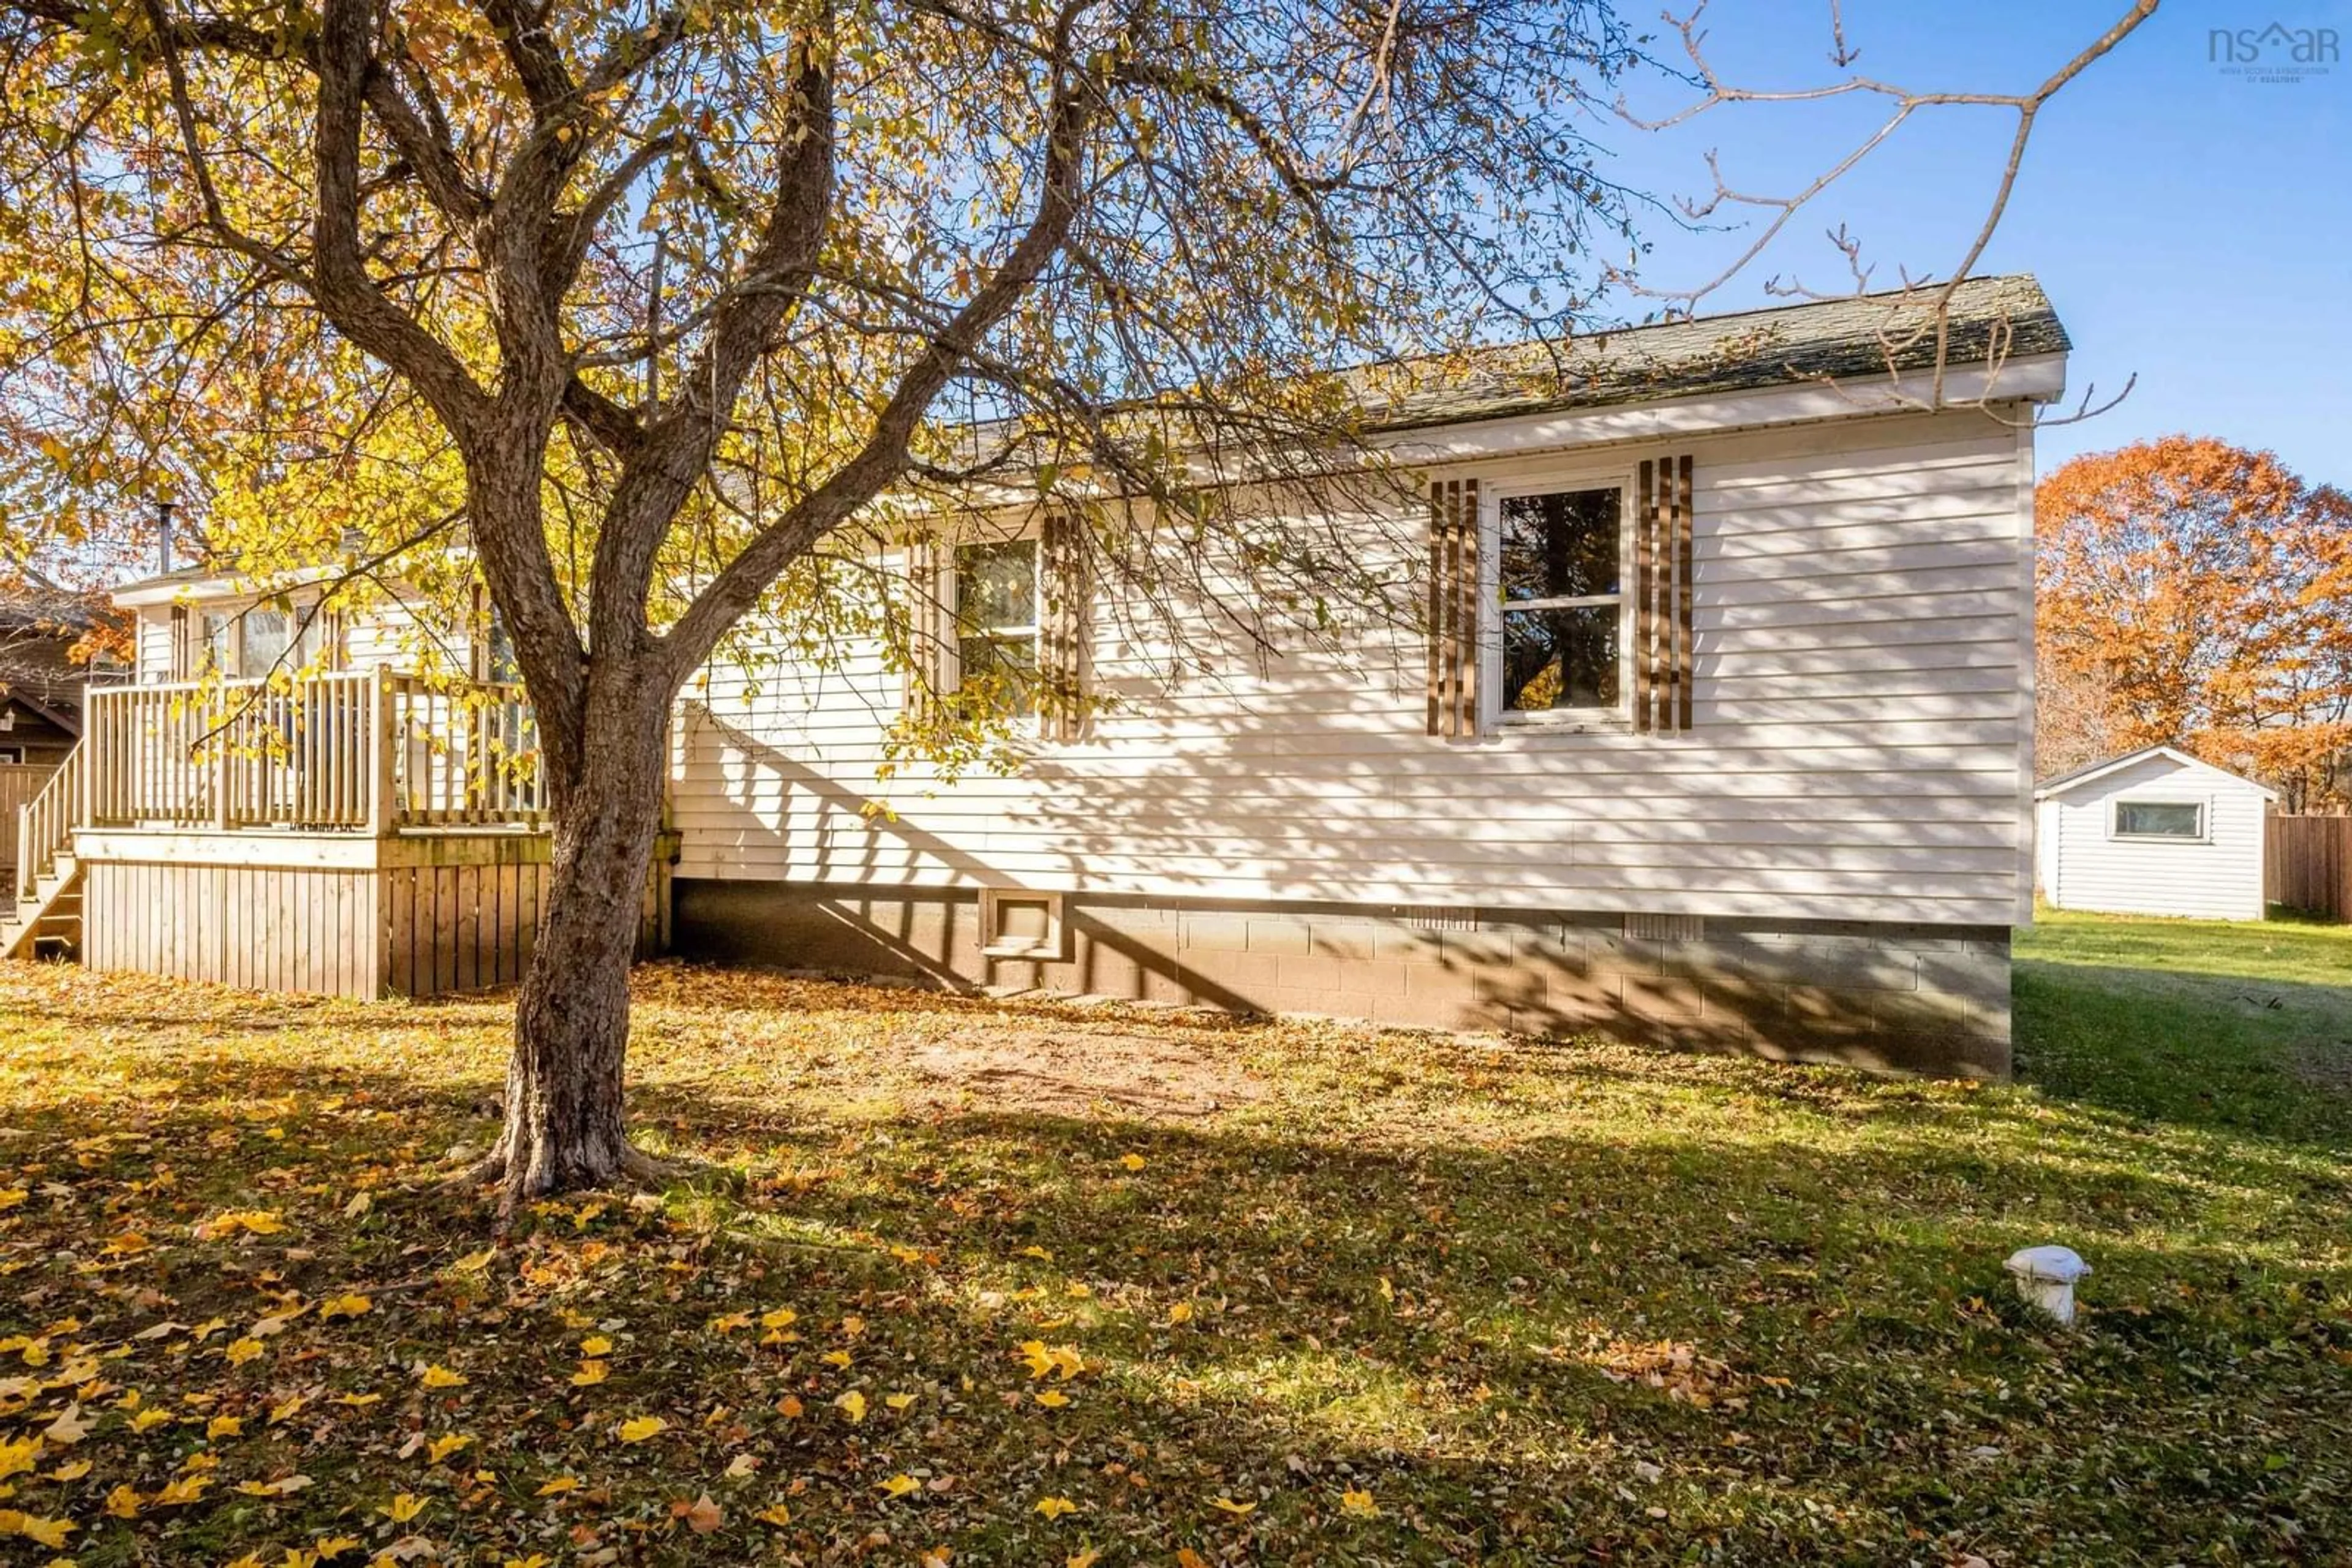
[{"label": "dark-paned window between brown slatted shutters, nearest the house's right end", "polygon": [[1618,705],[1623,517],[1618,487],[1498,498],[1494,555],[1505,715]]}]

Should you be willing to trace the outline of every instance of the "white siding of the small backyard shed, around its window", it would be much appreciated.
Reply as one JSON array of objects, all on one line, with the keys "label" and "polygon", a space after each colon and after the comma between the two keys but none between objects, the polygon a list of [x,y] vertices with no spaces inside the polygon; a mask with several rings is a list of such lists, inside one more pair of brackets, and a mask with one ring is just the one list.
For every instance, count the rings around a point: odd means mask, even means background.
[{"label": "white siding of the small backyard shed, around its window", "polygon": [[[2197,802],[2204,844],[2117,839],[2114,802]],[[2263,919],[2263,792],[2251,783],[2147,757],[2077,795],[2042,802],[2044,893],[2060,910]]]}]

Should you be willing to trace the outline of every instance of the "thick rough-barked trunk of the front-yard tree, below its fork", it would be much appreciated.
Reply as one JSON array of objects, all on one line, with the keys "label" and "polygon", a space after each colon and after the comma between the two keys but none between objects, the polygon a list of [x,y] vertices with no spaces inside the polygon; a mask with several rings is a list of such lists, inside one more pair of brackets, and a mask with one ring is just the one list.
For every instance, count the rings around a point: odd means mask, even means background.
[{"label": "thick rough-barked trunk of the front-yard tree, below its fork", "polygon": [[583,726],[576,778],[555,778],[555,853],[539,943],[515,1004],[506,1131],[485,1175],[506,1206],[595,1187],[654,1161],[630,1150],[621,1065],[628,1053],[628,964],[661,832],[668,703],[614,703]]}]

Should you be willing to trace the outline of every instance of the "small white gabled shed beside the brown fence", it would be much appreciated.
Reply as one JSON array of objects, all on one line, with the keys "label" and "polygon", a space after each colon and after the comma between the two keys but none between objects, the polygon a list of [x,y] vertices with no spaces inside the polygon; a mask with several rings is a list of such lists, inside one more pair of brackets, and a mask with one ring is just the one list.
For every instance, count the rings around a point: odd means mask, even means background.
[{"label": "small white gabled shed beside the brown fence", "polygon": [[2034,870],[2056,910],[2263,919],[2277,790],[2147,745],[2034,790]]}]

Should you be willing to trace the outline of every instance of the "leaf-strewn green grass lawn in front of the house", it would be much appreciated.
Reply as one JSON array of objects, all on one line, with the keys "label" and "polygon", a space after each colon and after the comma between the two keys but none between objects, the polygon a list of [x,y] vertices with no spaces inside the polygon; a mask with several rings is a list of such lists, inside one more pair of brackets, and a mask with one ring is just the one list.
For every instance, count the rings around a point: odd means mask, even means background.
[{"label": "leaf-strewn green grass lawn in front of the house", "polygon": [[2018,954],[2013,1086],[652,966],[710,1178],[494,1253],[503,1001],[0,966],[0,1563],[2347,1561],[2352,933]]}]

